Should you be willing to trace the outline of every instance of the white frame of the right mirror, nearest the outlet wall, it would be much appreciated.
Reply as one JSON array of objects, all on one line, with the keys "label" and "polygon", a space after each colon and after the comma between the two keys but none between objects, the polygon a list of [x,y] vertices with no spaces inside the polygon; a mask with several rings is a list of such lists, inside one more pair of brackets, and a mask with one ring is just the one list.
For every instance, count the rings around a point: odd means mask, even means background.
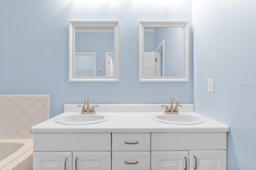
[{"label": "white frame of the right mirror, nearest the outlet wall", "polygon": [[[183,28],[183,76],[143,76],[144,27],[182,27]],[[189,32],[188,22],[139,21],[139,82],[186,82],[189,81]],[[166,47],[168,48],[168,47]]]}]

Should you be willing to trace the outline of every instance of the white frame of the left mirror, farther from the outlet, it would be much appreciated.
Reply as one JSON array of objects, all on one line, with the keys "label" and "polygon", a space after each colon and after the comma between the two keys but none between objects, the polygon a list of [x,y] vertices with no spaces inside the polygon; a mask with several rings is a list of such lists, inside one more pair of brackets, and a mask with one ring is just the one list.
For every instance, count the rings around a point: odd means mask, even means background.
[{"label": "white frame of the left mirror, farther from the outlet", "polygon": [[[78,77],[74,74],[74,58],[75,58],[75,27],[83,26],[113,26],[114,27],[114,63],[115,76],[114,77]],[[68,79],[70,82],[118,82],[120,79],[119,73],[119,21],[69,21],[68,29]]]}]

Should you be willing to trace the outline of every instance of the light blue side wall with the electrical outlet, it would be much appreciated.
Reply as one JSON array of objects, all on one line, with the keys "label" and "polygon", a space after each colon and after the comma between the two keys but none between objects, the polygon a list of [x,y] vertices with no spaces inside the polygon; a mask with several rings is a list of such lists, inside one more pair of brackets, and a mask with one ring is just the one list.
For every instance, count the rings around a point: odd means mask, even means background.
[{"label": "light blue side wall with the electrical outlet", "polygon": [[[254,170],[256,1],[193,3],[195,111],[230,127],[228,170]],[[214,93],[208,93],[210,78]]]}]

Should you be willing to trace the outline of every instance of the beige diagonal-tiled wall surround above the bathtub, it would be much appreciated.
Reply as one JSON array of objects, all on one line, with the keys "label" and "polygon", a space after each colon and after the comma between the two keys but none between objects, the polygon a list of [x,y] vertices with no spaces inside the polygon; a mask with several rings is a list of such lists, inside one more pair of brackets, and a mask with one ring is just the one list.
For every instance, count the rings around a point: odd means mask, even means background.
[{"label": "beige diagonal-tiled wall surround above the bathtub", "polygon": [[0,139],[33,138],[30,128],[49,119],[49,95],[0,95]]}]

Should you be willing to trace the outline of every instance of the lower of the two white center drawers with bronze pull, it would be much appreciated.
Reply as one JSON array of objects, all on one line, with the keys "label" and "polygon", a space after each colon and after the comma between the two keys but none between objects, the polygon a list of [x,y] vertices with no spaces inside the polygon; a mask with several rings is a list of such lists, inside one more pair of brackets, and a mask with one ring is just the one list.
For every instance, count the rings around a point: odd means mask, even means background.
[{"label": "lower of the two white center drawers with bronze pull", "polygon": [[112,170],[150,170],[150,151],[112,152]]}]

